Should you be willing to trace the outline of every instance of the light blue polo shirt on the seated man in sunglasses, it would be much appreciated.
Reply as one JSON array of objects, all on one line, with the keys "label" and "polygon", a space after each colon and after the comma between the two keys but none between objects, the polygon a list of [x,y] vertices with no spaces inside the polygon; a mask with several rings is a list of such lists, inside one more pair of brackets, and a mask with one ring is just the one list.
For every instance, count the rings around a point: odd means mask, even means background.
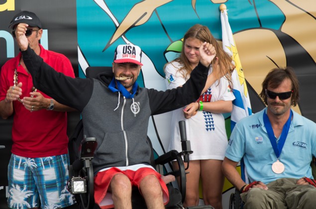
[{"label": "light blue polo shirt on the seated man in sunglasses", "polygon": [[316,156],[316,124],[293,111],[289,134],[280,154],[285,170],[276,174],[272,171],[272,163],[277,157],[263,123],[266,109],[236,124],[225,156],[235,162],[243,157],[250,182],[267,184],[279,178],[313,178],[310,164],[312,156]]}]

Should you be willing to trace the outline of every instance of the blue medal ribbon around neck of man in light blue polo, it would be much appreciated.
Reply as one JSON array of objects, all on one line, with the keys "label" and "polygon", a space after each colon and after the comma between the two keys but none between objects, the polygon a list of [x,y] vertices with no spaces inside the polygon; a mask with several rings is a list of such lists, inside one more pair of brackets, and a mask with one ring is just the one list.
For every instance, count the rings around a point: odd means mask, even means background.
[{"label": "blue medal ribbon around neck of man in light blue polo", "polygon": [[274,153],[278,159],[280,157],[282,148],[284,146],[285,139],[287,138],[289,130],[290,130],[291,118],[292,118],[292,110],[290,112],[290,117],[289,117],[288,121],[285,123],[285,125],[282,129],[281,137],[280,137],[279,142],[277,144],[277,140],[274,136],[273,129],[272,129],[270,120],[268,118],[268,115],[266,114],[265,111],[263,113],[263,123],[264,123],[264,126],[266,127],[266,130],[267,130],[271,145],[273,147]]}]

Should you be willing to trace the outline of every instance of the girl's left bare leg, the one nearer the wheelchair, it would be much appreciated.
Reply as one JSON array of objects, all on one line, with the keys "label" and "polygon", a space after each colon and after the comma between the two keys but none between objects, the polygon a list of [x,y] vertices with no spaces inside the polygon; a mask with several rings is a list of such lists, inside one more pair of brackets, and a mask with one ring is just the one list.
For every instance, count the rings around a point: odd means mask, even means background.
[{"label": "girl's left bare leg, the one nearer the wheelchair", "polygon": [[[186,164],[186,163],[185,163]],[[178,169],[177,163],[173,163],[175,169]],[[187,166],[187,165],[185,165]],[[199,183],[200,183],[200,160],[190,160],[190,166],[187,172],[187,190],[186,199],[183,203],[184,207],[199,205]],[[179,179],[178,179],[179,183]]]}]

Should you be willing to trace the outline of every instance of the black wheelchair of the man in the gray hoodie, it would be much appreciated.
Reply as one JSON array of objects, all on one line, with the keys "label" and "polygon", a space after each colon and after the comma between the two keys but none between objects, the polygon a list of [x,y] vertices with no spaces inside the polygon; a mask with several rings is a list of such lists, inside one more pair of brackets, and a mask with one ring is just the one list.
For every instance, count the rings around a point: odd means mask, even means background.
[{"label": "black wheelchair of the man in the gray hoodie", "polygon": [[[184,121],[179,122],[180,130],[185,129]],[[70,152],[70,159],[72,164],[69,167],[70,181],[68,182],[68,189],[74,195],[80,209],[99,209],[94,202],[94,172],[92,159],[94,152],[97,148],[97,141],[95,138],[87,138],[83,136],[83,123],[79,121],[75,129],[75,133],[70,138],[69,149],[75,150],[74,153]],[[180,178],[179,189],[172,186],[171,183],[167,184],[169,191],[169,203],[165,206],[166,209],[184,209],[182,203],[186,195],[186,169],[184,160],[189,165],[189,154],[192,153],[190,141],[186,140],[185,130],[180,131],[182,141],[182,152],[171,150],[158,158],[154,159],[153,148],[150,139],[147,140],[152,148],[151,165],[156,168],[157,172],[162,175],[174,175]],[[178,170],[173,170],[166,173],[163,165],[176,160],[179,166]],[[132,208],[133,209],[146,209],[146,204],[138,188],[132,190]],[[187,209],[212,209],[211,206],[198,206],[188,207]]]}]

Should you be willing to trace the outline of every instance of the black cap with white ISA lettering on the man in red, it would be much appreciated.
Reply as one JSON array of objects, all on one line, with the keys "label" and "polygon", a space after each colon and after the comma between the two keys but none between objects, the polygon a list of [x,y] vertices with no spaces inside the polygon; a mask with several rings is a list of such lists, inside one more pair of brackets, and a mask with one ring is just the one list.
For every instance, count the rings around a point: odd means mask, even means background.
[{"label": "black cap with white ISA lettering on the man in red", "polygon": [[14,15],[9,24],[9,28],[13,28],[18,23],[26,23],[30,27],[39,27],[42,29],[42,23],[35,13],[31,11],[21,11]]}]

